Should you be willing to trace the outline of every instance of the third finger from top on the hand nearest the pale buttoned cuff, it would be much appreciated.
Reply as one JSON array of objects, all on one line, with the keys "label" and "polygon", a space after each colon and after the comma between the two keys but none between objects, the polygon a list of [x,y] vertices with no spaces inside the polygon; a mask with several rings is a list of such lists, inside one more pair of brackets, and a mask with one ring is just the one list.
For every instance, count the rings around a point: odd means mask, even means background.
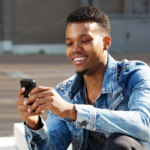
[{"label": "third finger from top on the hand nearest the pale buttoned cuff", "polygon": [[39,99],[38,101],[34,102],[34,104],[32,104],[29,112],[32,112],[33,110],[36,110],[38,107],[40,107],[40,105],[46,104],[49,101],[51,101],[51,97],[45,97],[45,98]]}]

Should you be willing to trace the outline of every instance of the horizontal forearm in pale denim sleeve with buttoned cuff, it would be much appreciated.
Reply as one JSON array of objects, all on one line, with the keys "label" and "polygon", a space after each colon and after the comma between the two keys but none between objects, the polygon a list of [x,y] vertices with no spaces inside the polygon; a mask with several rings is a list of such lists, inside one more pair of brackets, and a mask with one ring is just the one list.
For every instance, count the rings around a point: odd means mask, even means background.
[{"label": "horizontal forearm in pale denim sleeve with buttoned cuff", "polygon": [[[87,105],[76,105],[76,109],[77,127],[110,134],[123,133],[140,140],[149,140],[149,119],[140,111],[110,111]],[[85,120],[87,125],[83,126]]]}]

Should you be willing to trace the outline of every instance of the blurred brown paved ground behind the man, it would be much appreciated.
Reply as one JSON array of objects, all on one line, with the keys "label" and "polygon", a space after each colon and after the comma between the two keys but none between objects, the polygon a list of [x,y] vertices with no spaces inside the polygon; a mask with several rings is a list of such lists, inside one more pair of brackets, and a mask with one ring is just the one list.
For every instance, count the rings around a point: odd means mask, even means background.
[{"label": "blurred brown paved ground behind the man", "polygon": [[[113,54],[112,56],[117,60],[126,58],[142,60],[150,64],[150,53]],[[0,137],[11,138],[13,124],[23,122],[15,104],[22,78],[35,79],[37,85],[54,88],[74,74],[74,66],[65,55],[0,55]],[[47,115],[48,111],[43,115],[44,120]],[[12,138],[12,143],[13,140]],[[4,142],[0,140],[0,143]],[[1,148],[0,145],[0,150]]]}]

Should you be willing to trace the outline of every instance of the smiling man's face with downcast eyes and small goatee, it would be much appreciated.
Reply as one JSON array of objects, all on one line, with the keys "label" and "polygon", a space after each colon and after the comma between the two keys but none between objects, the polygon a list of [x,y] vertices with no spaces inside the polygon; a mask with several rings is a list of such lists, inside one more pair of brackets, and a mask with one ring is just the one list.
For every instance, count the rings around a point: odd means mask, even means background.
[{"label": "smiling man's face with downcast eyes and small goatee", "polygon": [[103,36],[96,22],[69,23],[66,28],[66,54],[77,72],[92,73],[107,57]]}]

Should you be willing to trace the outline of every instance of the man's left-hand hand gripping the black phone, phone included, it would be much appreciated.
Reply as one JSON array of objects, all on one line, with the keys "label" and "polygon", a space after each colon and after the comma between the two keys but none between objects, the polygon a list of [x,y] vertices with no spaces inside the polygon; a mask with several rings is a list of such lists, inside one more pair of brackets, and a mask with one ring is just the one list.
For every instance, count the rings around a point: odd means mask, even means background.
[{"label": "man's left-hand hand gripping the black phone, phone included", "polygon": [[[29,100],[28,95],[30,91],[36,87],[36,82],[33,79],[22,79],[20,81],[21,87],[25,87],[25,89],[21,88],[17,91],[18,94],[18,100],[16,102],[18,112],[20,113],[20,116],[25,120],[25,123],[28,127],[34,130],[38,130],[42,127],[42,123],[39,120],[39,115],[42,113],[35,113],[33,110],[32,112],[28,112],[28,109],[30,109],[32,106],[31,103],[28,105],[24,105],[24,102],[26,100]],[[23,97],[22,97],[23,95]]]}]

